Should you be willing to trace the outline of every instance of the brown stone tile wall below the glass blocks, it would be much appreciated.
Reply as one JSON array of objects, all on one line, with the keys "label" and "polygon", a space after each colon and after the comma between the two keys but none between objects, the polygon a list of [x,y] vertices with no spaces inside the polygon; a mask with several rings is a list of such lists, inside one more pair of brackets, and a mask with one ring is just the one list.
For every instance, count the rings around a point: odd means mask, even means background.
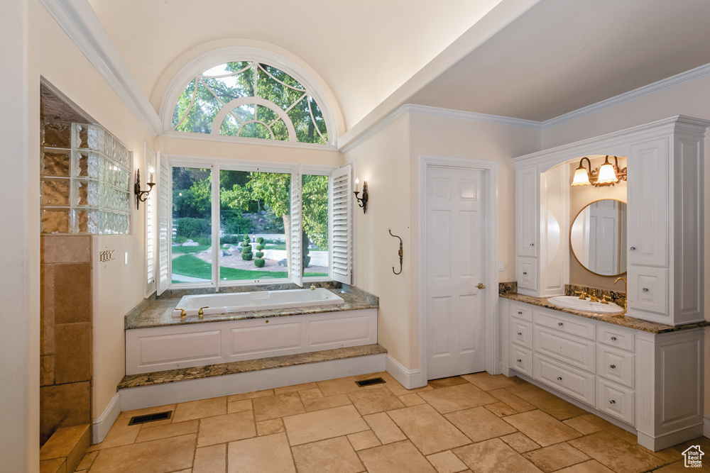
[{"label": "brown stone tile wall below the glass blocks", "polygon": [[88,236],[41,238],[40,445],[91,423],[91,255]]}]

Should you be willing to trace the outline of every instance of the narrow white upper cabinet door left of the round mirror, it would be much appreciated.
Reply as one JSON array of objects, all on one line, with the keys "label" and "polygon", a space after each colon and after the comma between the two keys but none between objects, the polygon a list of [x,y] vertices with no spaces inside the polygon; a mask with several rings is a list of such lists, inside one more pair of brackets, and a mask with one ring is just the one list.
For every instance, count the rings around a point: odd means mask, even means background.
[{"label": "narrow white upper cabinet door left of the round mirror", "polygon": [[540,196],[540,178],[537,167],[518,169],[518,185],[515,187],[515,209],[517,216],[518,256],[537,256],[537,240],[540,229],[537,226],[537,199]]}]

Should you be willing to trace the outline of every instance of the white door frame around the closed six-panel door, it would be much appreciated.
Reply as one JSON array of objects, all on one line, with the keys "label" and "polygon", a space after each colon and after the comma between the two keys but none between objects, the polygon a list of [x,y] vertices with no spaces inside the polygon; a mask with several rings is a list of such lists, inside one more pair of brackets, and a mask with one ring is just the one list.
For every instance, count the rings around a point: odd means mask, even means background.
[{"label": "white door frame around the closed six-panel door", "polygon": [[500,345],[498,326],[498,161],[479,160],[466,157],[446,157],[419,155],[419,386],[427,385],[427,170],[430,167],[448,167],[452,169],[471,169],[483,171],[484,191],[484,228],[486,243],[484,246],[484,284],[489,290],[484,297],[484,353],[486,371],[500,373],[500,360],[497,356]]}]

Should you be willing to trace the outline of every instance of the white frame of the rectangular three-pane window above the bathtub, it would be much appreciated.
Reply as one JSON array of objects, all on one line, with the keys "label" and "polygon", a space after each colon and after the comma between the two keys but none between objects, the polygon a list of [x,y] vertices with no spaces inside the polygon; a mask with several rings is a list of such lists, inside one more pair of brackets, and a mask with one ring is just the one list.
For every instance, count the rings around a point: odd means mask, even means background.
[{"label": "white frame of the rectangular three-pane window above the bathtub", "polygon": [[[337,166],[327,166],[327,165],[300,165],[293,163],[283,163],[283,162],[263,162],[263,161],[235,161],[223,158],[209,158],[209,157],[188,157],[179,155],[160,155],[161,160],[167,162],[169,179],[168,182],[161,182],[159,185],[164,185],[168,189],[168,231],[172,232],[173,228],[173,168],[175,167],[192,167],[196,169],[210,169],[212,176],[212,204],[211,204],[211,225],[212,225],[212,279],[210,282],[173,282],[173,249],[172,249],[172,233],[168,238],[168,284],[164,289],[214,289],[214,291],[219,291],[221,287],[231,287],[231,286],[253,286],[255,284],[290,284],[292,282],[291,268],[288,268],[288,277],[278,278],[278,279],[249,279],[243,281],[221,281],[219,279],[219,222],[220,222],[220,209],[219,209],[219,197],[214,199],[214,196],[219,196],[219,179],[215,179],[215,176],[219,176],[221,171],[242,171],[242,172],[277,172],[283,174],[290,174],[293,176],[295,173],[298,174],[299,178],[302,179],[304,174],[314,175],[314,176],[328,176],[328,276],[327,277],[308,277],[301,273],[300,280],[302,283],[312,284],[314,282],[330,282],[334,281],[333,277],[333,251],[332,251],[332,213],[333,213],[333,202],[332,202],[332,173],[340,169]],[[302,191],[302,189],[300,189]],[[302,208],[302,207],[301,207]],[[160,213],[160,209],[158,209]],[[287,235],[287,238],[289,236]],[[158,249],[160,252],[160,249]],[[292,253],[293,254],[293,253]],[[301,269],[302,271],[302,269]],[[158,275],[158,279],[160,275]],[[160,293],[161,291],[159,291]]]}]

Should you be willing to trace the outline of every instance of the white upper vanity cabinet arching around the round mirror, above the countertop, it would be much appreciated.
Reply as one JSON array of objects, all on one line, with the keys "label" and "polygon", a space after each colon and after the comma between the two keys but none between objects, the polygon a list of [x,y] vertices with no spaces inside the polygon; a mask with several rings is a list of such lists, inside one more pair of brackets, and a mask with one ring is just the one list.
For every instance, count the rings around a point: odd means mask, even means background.
[{"label": "white upper vanity cabinet arching around the round mirror, above the countertop", "polygon": [[[667,325],[703,321],[708,126],[710,121],[674,116],[515,158],[520,294],[556,296],[570,284],[569,162],[625,156],[628,313]],[[605,189],[598,189],[600,199]]]}]

